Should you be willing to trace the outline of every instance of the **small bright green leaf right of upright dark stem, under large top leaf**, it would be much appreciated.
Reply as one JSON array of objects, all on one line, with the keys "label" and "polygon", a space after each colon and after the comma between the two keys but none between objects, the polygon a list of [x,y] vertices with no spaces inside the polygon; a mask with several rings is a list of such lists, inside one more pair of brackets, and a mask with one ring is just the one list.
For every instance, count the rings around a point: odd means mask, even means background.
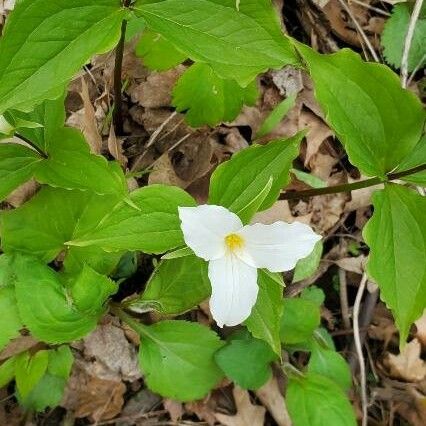
[{"label": "small bright green leaf right of upright dark stem, under large top leaf", "polygon": [[162,35],[146,30],[136,45],[136,55],[143,64],[156,71],[166,71],[184,62],[187,56]]}]

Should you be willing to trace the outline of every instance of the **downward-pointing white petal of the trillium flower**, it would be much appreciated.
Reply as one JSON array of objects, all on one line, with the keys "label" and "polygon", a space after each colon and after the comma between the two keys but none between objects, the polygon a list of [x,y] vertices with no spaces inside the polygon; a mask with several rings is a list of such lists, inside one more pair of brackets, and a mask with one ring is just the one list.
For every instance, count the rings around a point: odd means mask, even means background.
[{"label": "downward-pointing white petal of the trillium flower", "polygon": [[218,326],[241,324],[256,303],[257,269],[228,254],[209,262],[209,278],[210,310]]}]

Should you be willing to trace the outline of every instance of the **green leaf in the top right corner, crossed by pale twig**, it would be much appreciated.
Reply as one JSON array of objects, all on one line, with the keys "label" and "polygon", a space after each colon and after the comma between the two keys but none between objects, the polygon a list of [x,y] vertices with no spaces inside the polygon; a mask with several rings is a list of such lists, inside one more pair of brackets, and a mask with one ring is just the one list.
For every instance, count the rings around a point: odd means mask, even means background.
[{"label": "green leaf in the top right corner, crossed by pale twig", "polygon": [[[410,24],[410,4],[397,4],[392,9],[392,16],[386,21],[381,43],[386,62],[395,68],[401,67],[404,41]],[[416,66],[421,68],[426,61],[426,16],[417,20],[411,48],[408,55],[408,71]]]}]

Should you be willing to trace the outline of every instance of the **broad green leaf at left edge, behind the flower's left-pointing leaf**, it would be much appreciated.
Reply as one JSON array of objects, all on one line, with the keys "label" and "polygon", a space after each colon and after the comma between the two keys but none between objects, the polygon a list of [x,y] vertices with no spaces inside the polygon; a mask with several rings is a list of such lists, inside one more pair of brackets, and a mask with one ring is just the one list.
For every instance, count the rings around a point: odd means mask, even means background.
[{"label": "broad green leaf at left edge, behind the flower's left-pointing leaf", "polygon": [[96,227],[118,202],[112,195],[44,187],[21,207],[0,213],[2,249],[50,262],[66,249],[64,243]]}]

